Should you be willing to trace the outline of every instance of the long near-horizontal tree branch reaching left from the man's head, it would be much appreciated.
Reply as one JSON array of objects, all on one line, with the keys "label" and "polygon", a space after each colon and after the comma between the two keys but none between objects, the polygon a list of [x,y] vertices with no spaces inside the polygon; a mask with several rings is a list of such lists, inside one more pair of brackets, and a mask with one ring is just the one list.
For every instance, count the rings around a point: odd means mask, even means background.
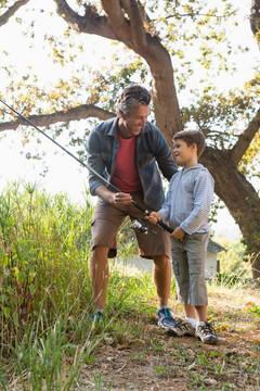
[{"label": "long near-horizontal tree branch reaching left from the man's head", "polygon": [[[53,114],[30,115],[26,119],[30,121],[36,126],[50,126],[60,122],[79,121],[90,117],[96,117],[100,121],[108,119],[116,116],[116,114],[103,110],[93,104],[82,104],[80,106],[69,109],[68,111],[60,111]],[[29,126],[29,124],[18,117],[16,121],[0,124],[0,131],[16,130],[20,125]]]}]

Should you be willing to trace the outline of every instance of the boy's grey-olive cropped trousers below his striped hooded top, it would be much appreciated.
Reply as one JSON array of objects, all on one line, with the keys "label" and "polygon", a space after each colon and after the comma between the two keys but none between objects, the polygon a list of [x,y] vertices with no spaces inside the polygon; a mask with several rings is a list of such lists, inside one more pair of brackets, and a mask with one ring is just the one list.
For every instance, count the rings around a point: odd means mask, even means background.
[{"label": "boy's grey-olive cropped trousers below his striped hooded top", "polygon": [[183,241],[171,239],[172,268],[178,300],[195,306],[208,304],[205,260],[209,234],[185,235]]}]

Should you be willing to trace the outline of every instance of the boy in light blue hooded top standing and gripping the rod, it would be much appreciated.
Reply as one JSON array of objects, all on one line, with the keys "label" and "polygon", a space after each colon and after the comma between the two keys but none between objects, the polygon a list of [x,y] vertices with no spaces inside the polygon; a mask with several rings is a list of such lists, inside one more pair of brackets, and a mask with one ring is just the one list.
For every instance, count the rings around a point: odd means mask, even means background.
[{"label": "boy in light blue hooded top standing and gripping the rod", "polygon": [[[217,343],[213,327],[207,321],[208,293],[205,257],[209,239],[208,215],[213,195],[213,178],[198,164],[205,138],[197,130],[182,130],[173,137],[173,157],[183,168],[173,175],[167,199],[147,219],[169,220],[172,267],[178,300],[184,305],[185,319],[168,328],[173,337],[195,336],[205,343]],[[196,319],[196,316],[198,320]]]}]

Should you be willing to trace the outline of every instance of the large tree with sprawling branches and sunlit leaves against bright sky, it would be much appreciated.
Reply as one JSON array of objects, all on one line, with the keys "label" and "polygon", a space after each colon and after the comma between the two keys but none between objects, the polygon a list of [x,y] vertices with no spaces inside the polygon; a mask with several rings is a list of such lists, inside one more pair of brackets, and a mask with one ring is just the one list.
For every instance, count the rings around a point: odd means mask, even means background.
[{"label": "large tree with sprawling branches and sunlit leaves against bright sky", "polygon": [[[21,37],[16,64],[1,43],[0,96],[35,125],[68,135],[83,159],[95,118],[114,115],[118,91],[129,83],[151,88],[152,121],[169,146],[183,128],[206,136],[202,163],[240,228],[258,278],[260,199],[252,179],[260,173],[260,74],[250,48],[259,43],[259,0],[248,9],[226,0],[1,1],[0,28],[16,23]],[[250,28],[249,48],[244,30]],[[34,47],[53,63],[51,74],[35,71],[36,58],[25,65]],[[236,77],[242,67],[243,83]],[[26,125],[0,110],[1,131]]]}]

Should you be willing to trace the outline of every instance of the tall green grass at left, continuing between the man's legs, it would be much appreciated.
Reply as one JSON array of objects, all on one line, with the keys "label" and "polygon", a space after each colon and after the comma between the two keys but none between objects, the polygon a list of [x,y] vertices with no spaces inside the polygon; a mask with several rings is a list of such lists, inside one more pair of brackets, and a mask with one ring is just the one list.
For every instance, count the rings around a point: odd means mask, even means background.
[{"label": "tall green grass at left, continuing between the man's legs", "polygon": [[0,194],[0,389],[69,390],[106,330],[126,338],[118,314],[142,312],[143,295],[155,294],[152,276],[129,283],[115,263],[109,320],[92,324],[92,212],[88,191],[80,205],[37,184],[13,182]]}]

